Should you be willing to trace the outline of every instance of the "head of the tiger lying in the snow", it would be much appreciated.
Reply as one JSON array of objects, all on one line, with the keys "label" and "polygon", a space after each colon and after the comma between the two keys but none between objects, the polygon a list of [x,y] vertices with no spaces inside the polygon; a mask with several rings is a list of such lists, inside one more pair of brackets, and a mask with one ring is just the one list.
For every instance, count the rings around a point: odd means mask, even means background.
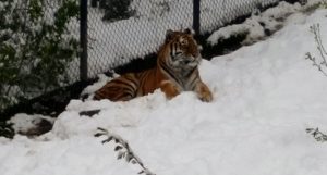
[{"label": "head of the tiger lying in the snow", "polygon": [[177,70],[192,70],[201,62],[199,47],[191,29],[167,30],[164,50],[166,62]]}]

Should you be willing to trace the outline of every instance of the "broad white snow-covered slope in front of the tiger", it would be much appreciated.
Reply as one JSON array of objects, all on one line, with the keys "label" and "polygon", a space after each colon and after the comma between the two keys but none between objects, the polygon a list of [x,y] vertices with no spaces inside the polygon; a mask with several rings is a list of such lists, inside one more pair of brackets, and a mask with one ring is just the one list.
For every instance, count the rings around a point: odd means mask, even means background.
[{"label": "broad white snow-covered slope in front of the tiger", "polygon": [[[211,103],[193,92],[166,100],[159,90],[129,102],[72,100],[48,134],[0,138],[1,175],[140,172],[93,136],[97,127],[128,140],[157,175],[323,175],[327,145],[305,133],[327,132],[327,77],[305,60],[306,52],[319,58],[310,32],[316,23],[327,46],[325,9],[295,13],[265,41],[204,60]],[[93,109],[101,111],[78,114]]]}]

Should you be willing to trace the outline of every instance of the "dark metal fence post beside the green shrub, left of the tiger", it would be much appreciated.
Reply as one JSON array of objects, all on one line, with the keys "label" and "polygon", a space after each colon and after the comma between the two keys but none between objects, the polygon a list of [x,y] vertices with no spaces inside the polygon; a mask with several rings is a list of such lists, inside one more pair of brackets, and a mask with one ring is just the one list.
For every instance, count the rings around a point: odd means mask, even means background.
[{"label": "dark metal fence post beside the green shrub, left of the tiger", "polygon": [[80,79],[87,80],[87,0],[80,1]]}]

